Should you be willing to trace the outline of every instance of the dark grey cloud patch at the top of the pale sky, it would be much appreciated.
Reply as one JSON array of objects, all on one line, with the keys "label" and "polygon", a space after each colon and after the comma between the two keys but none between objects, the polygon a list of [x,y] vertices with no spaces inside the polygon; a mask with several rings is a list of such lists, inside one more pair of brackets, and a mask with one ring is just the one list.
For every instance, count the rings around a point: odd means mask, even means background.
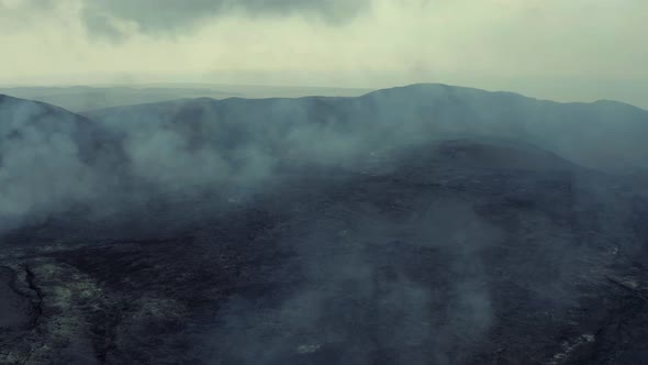
[{"label": "dark grey cloud patch at the top of the pale sky", "polygon": [[123,24],[145,34],[188,33],[214,18],[300,15],[328,24],[344,24],[368,10],[371,0],[96,0],[85,1],[81,18],[90,35],[119,40]]}]

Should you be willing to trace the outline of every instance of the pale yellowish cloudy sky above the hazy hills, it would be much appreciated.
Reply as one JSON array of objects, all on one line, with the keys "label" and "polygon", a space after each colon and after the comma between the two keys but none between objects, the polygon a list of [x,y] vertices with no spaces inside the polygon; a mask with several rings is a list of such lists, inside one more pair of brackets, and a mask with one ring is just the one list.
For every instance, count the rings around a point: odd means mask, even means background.
[{"label": "pale yellowish cloudy sky above the hazy hills", "polygon": [[443,82],[648,108],[645,0],[0,0],[0,85]]}]

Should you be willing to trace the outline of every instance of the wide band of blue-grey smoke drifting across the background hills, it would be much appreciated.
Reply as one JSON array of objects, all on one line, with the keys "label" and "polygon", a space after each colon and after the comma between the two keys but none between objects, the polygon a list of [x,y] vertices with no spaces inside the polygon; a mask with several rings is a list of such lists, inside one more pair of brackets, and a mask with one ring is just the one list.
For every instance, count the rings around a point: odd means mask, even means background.
[{"label": "wide band of blue-grey smoke drifting across the background hills", "polygon": [[197,99],[97,111],[90,120],[5,98],[1,112],[2,210],[13,219],[68,199],[247,195],[271,189],[287,168],[367,172],[381,155],[389,170],[401,148],[453,135],[519,139],[602,169],[646,167],[648,129],[648,113],[623,104],[439,85],[361,98]]}]

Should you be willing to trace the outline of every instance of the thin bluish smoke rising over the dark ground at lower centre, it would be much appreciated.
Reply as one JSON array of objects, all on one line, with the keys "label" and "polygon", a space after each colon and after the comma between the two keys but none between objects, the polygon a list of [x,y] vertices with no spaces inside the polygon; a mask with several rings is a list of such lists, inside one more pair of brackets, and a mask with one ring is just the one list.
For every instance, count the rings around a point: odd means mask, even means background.
[{"label": "thin bluish smoke rising over the dark ground at lower centre", "polygon": [[[344,364],[450,364],[445,354],[470,349],[492,323],[479,257],[500,233],[465,201],[418,204],[424,214],[398,217],[350,202],[295,222],[301,286],[278,305],[234,297],[208,336],[205,361],[299,363],[320,352],[314,358]],[[431,281],[410,276],[416,264],[389,259],[391,251],[431,248],[455,263],[449,273],[427,267]]]}]

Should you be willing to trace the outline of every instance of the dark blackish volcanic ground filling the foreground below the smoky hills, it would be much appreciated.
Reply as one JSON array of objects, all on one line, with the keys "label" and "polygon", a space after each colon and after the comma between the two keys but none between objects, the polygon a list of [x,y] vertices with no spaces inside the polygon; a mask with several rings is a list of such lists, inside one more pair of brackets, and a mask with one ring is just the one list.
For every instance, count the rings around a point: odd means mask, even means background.
[{"label": "dark blackish volcanic ground filling the foreground below the smoky hills", "polygon": [[381,158],[7,233],[0,363],[648,362],[635,181],[463,140]]}]

